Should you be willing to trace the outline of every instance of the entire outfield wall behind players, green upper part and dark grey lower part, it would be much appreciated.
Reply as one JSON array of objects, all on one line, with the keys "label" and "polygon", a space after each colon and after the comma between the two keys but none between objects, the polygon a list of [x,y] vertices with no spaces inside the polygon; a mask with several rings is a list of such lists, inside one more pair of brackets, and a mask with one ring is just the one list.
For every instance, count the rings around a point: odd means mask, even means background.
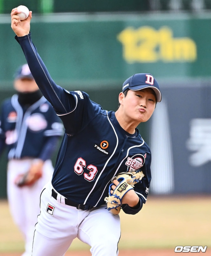
[{"label": "entire outfield wall behind players, green upper part and dark grey lower part", "polygon": [[[133,74],[157,78],[163,99],[151,121],[139,127],[153,149],[157,182],[150,189],[191,194],[211,193],[210,27],[210,13],[49,14],[33,15],[31,32],[55,82],[86,91],[103,109],[117,109],[122,83]],[[0,16],[0,31],[2,101],[13,94],[13,74],[25,58],[9,15]],[[0,197],[5,197],[6,158],[0,161]]]}]

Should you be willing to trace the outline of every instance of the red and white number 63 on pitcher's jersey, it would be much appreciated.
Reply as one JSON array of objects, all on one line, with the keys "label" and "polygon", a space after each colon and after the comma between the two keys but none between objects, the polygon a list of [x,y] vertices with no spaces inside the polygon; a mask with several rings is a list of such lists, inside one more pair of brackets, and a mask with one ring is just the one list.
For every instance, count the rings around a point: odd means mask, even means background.
[{"label": "red and white number 63 on pitcher's jersey", "polygon": [[[77,173],[78,175],[81,175],[83,173],[83,168],[86,167],[86,161],[83,160],[83,158],[78,158],[78,160],[76,161],[75,165],[74,165],[74,171],[75,173]],[[89,173],[85,173],[83,174],[84,179],[88,180],[88,181],[92,181],[93,179],[95,179],[95,176],[98,172],[98,168],[93,165],[93,164],[89,164],[86,167],[87,170],[89,170]]]}]

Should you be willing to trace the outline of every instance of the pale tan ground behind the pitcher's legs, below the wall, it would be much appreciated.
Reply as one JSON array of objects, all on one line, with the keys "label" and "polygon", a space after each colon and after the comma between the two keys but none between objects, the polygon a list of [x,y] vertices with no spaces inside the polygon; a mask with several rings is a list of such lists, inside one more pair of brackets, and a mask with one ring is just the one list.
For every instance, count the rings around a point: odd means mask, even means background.
[{"label": "pale tan ground behind the pitcher's legs, below the wall", "polygon": [[[211,256],[210,195],[148,199],[140,213],[120,212],[119,256],[172,256],[175,246],[207,246],[203,254]],[[23,238],[6,200],[0,201],[0,209],[0,256],[21,256]],[[91,256],[89,249],[76,238],[66,256]]]}]

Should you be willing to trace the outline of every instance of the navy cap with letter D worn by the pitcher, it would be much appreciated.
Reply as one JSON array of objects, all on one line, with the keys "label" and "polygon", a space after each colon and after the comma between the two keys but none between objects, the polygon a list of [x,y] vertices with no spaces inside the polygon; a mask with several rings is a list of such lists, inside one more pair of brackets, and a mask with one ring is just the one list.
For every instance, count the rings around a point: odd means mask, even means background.
[{"label": "navy cap with letter D worn by the pitcher", "polygon": [[162,96],[158,82],[151,74],[139,73],[129,77],[123,83],[122,92],[124,93],[124,91],[127,89],[139,91],[144,88],[152,88],[155,91],[157,102],[161,101]]}]

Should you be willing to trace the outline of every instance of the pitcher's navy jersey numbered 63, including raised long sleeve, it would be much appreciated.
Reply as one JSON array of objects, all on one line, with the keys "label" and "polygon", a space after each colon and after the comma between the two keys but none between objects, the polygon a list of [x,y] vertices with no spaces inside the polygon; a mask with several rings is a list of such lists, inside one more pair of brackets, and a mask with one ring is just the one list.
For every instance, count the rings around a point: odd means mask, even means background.
[{"label": "pitcher's navy jersey numbered 63, including raised long sleeve", "polygon": [[[103,110],[84,92],[68,92],[56,85],[31,41],[31,34],[16,36],[16,40],[41,92],[65,127],[52,179],[55,190],[79,204],[100,206],[105,203],[115,175],[142,170],[144,178],[134,190],[145,203],[151,180],[151,152],[138,129],[134,135],[128,134],[113,111]],[[124,211],[134,214],[141,207]]]}]

